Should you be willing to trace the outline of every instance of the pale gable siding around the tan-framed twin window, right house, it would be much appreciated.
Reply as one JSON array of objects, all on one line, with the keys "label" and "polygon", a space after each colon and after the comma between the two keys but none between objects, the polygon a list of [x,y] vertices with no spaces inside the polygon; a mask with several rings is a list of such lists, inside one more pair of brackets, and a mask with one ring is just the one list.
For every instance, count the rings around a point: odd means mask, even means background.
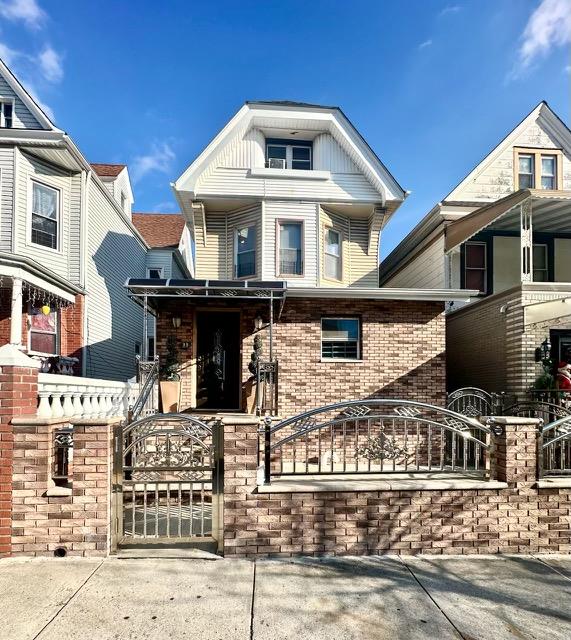
[{"label": "pale gable siding around the tan-framed twin window, right house", "polygon": [[[509,195],[515,190],[514,186],[514,147],[529,147],[532,149],[558,149],[560,145],[542,127],[541,116],[531,122],[515,138],[513,144],[508,145],[491,160],[486,158],[481,163],[480,170],[467,183],[461,183],[448,196],[447,200],[459,201],[493,201]],[[571,189],[571,160],[563,155],[563,189]]]}]

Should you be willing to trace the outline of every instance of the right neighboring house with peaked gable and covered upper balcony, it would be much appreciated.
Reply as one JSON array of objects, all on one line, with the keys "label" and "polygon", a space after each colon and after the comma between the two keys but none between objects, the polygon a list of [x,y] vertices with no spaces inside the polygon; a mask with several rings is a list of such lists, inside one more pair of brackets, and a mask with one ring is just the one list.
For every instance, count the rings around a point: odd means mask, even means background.
[{"label": "right neighboring house with peaked gable and covered upper balcony", "polygon": [[571,132],[541,102],[380,265],[382,287],[476,289],[447,317],[451,388],[523,395],[571,360]]}]

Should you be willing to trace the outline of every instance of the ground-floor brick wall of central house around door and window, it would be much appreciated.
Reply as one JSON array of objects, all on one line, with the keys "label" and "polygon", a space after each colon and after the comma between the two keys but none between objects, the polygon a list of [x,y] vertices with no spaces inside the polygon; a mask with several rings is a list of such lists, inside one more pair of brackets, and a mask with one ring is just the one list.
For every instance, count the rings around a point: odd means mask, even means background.
[{"label": "ground-floor brick wall of central house around door and window", "polygon": [[[193,405],[196,384],[194,316],[204,306],[167,302],[159,310],[157,349],[164,358],[166,340],[176,335],[182,375],[182,408]],[[208,308],[240,311],[242,408],[246,409],[248,370],[254,346],[254,319],[269,321],[267,303],[216,302]],[[173,315],[182,324],[174,329]],[[321,361],[321,318],[356,316],[362,326],[362,360]],[[269,356],[269,331],[260,332],[263,357]],[[274,355],[279,362],[278,411],[292,415],[330,402],[365,397],[397,397],[442,404],[445,398],[445,327],[443,304],[437,302],[329,300],[291,298],[274,325]]]}]

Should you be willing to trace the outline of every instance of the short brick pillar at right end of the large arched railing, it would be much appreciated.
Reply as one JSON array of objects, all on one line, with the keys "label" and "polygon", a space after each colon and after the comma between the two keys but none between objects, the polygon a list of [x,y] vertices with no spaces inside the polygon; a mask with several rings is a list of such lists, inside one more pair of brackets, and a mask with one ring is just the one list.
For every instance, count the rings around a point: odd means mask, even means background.
[{"label": "short brick pillar at right end of the large arched railing", "polygon": [[493,438],[492,478],[511,486],[533,484],[537,480],[536,418],[494,418],[503,433]]}]

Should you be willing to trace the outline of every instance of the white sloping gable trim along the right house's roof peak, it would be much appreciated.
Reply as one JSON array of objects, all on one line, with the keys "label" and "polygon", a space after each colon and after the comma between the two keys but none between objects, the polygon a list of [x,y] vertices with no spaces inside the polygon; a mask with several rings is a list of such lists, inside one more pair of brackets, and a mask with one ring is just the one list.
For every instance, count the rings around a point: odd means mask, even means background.
[{"label": "white sloping gable trim along the right house's roof peak", "polygon": [[444,201],[454,200],[455,194],[462,191],[486,169],[494,163],[509,147],[514,146],[517,138],[536,120],[541,120],[541,127],[551,135],[569,154],[571,152],[571,132],[561,122],[546,102],[540,102],[490,153],[479,162],[474,169],[444,198]]}]

